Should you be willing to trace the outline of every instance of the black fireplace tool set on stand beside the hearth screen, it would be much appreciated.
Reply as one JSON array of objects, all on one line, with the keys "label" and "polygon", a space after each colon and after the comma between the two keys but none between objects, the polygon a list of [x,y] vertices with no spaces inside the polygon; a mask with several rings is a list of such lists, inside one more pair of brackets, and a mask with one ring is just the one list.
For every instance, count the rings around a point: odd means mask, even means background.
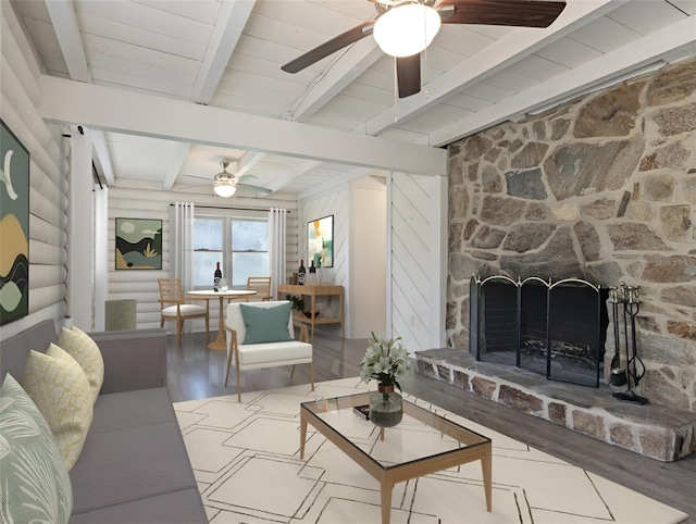
[{"label": "black fireplace tool set on stand beside the hearth screen", "polygon": [[[641,397],[633,389],[638,386],[641,378],[645,375],[645,365],[638,357],[635,338],[635,317],[641,309],[637,286],[626,286],[620,283],[620,287],[609,288],[609,302],[613,315],[613,340],[614,354],[611,360],[611,375],[609,384],[614,387],[626,386],[621,392],[614,392],[613,397],[623,401],[636,404],[647,404],[649,400]],[[619,304],[623,308],[623,347],[625,349],[625,367],[621,367],[621,334],[619,325]],[[629,324],[631,325],[631,340],[629,342]],[[630,349],[629,349],[630,346]],[[632,384],[633,383],[633,384]]]}]

